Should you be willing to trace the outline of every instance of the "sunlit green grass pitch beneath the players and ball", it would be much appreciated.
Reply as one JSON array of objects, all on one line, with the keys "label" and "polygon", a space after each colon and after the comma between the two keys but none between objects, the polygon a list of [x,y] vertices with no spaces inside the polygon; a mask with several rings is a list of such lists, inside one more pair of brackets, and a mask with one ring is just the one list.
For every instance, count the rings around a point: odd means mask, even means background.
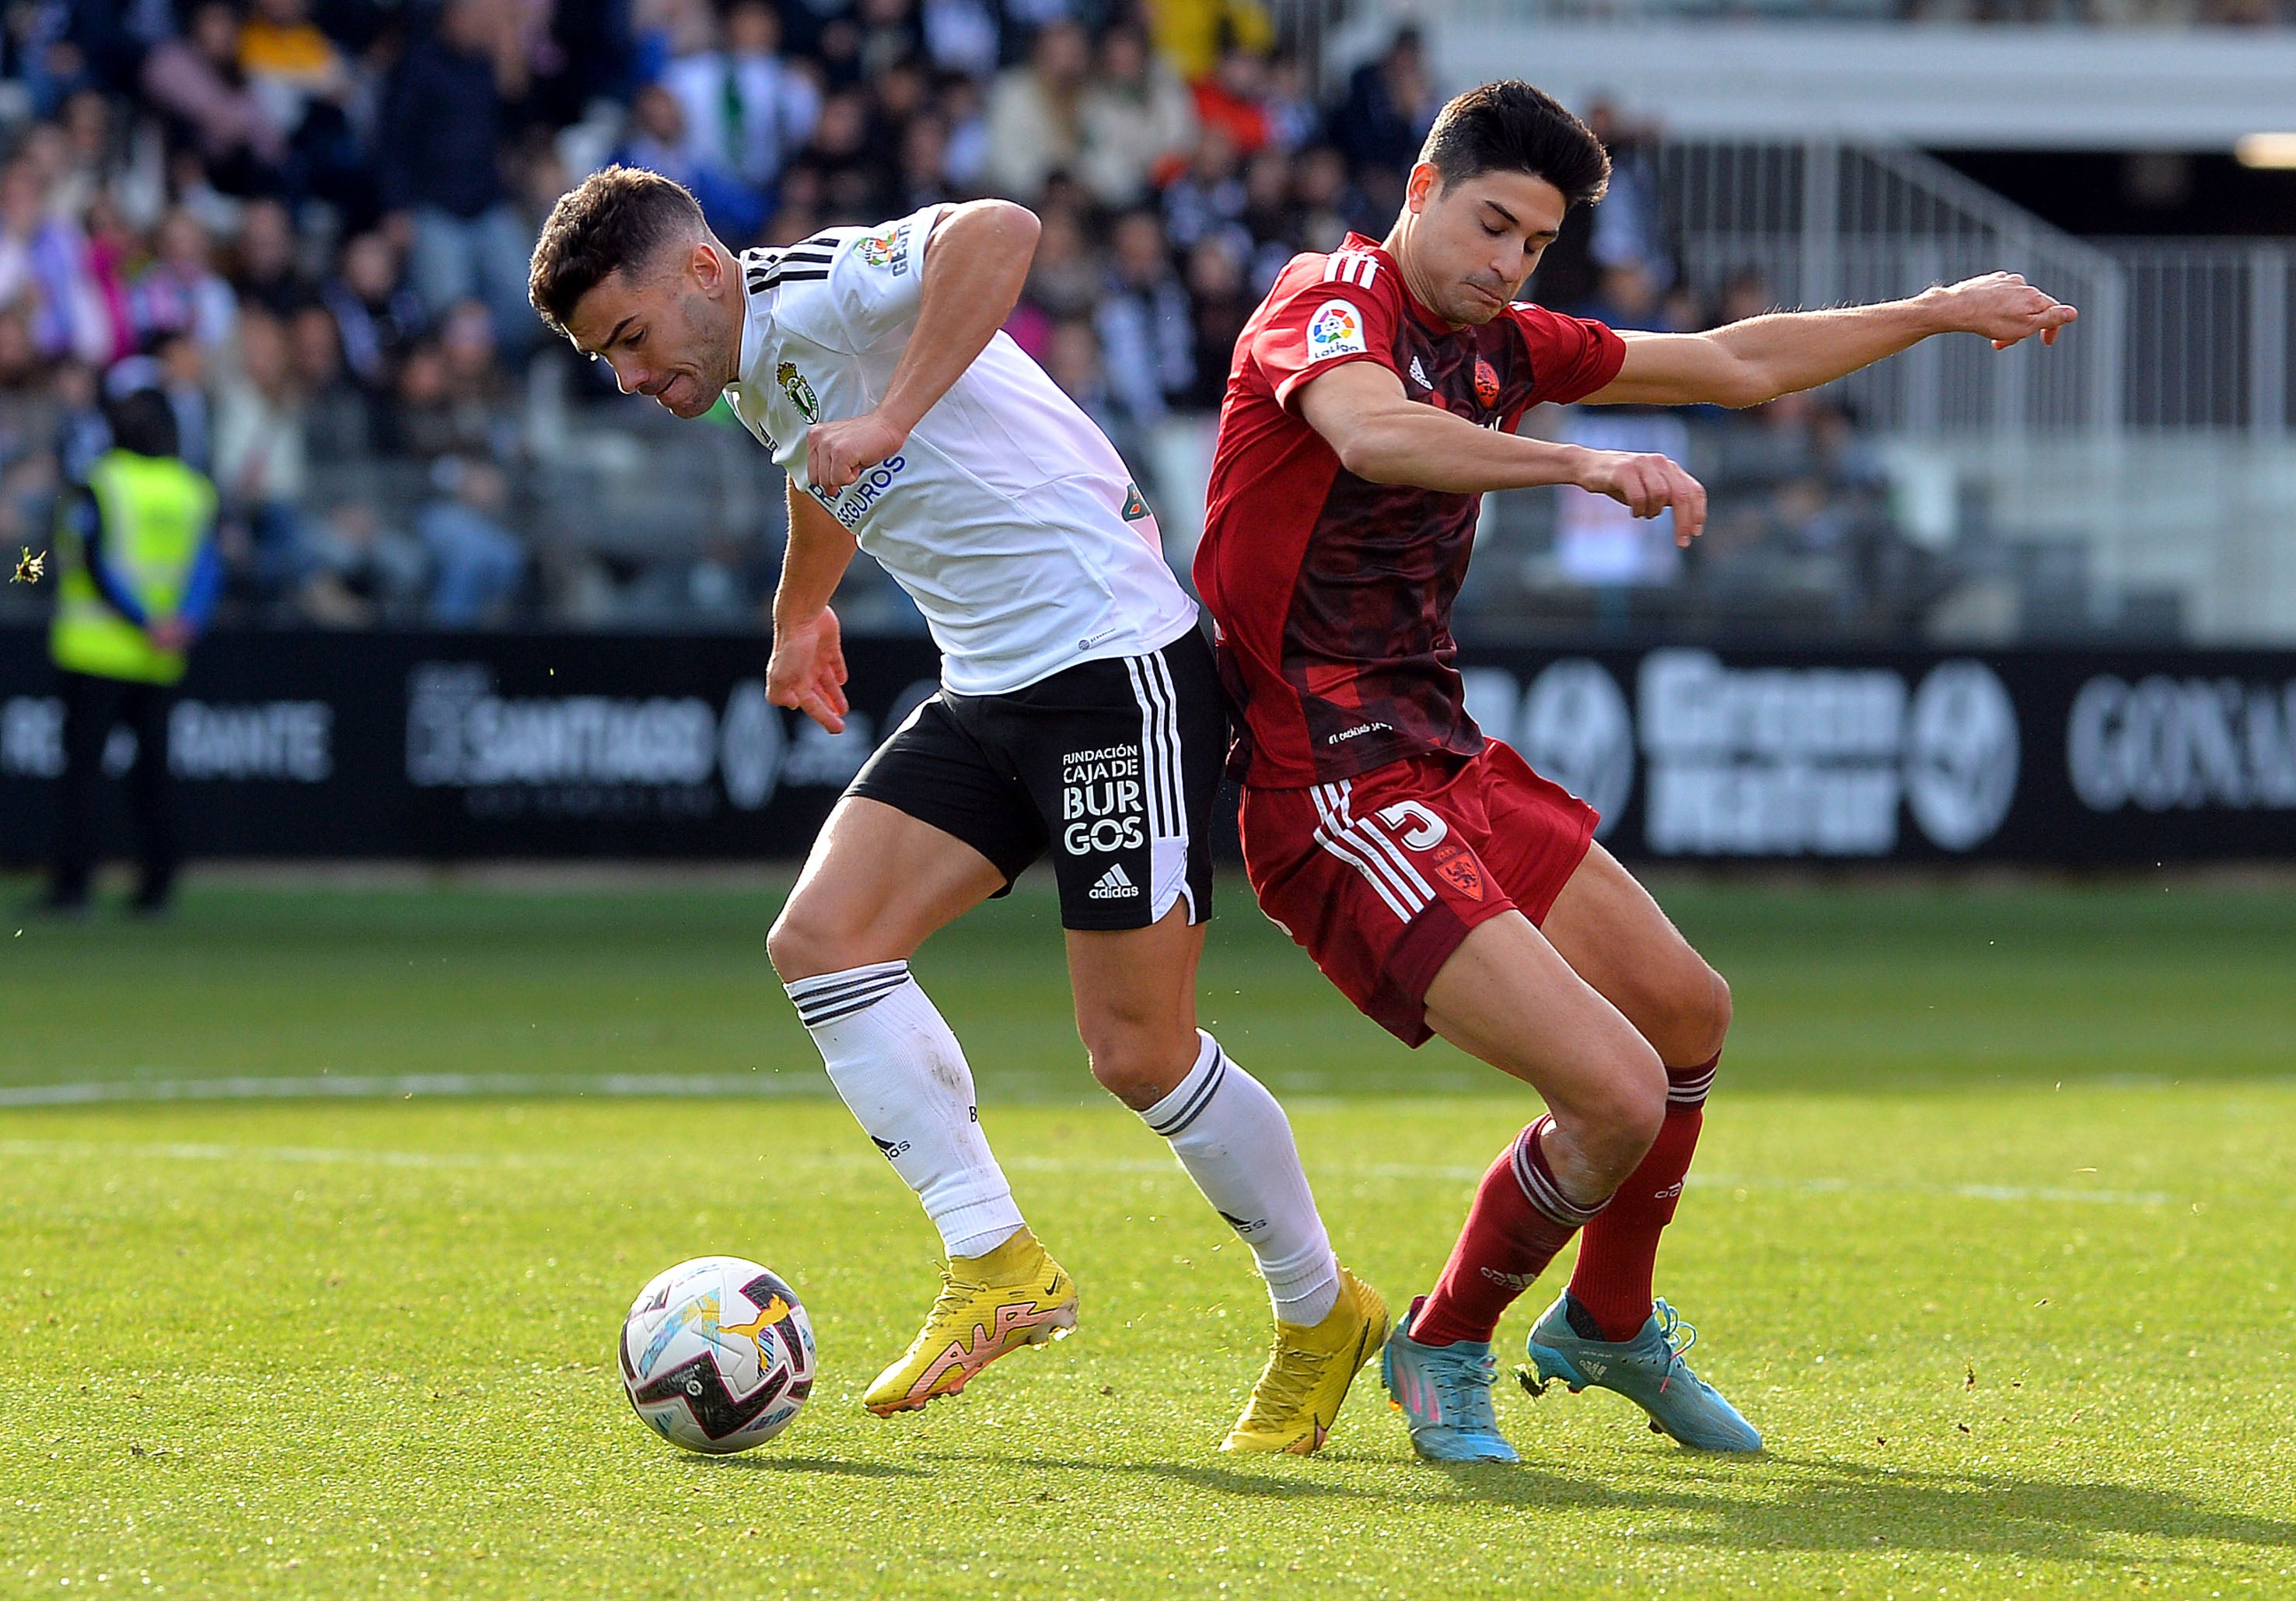
[{"label": "sunlit green grass pitch beneath the players and ball", "polygon": [[[1368,1376],[1318,1459],[1215,1452],[1265,1298],[1091,1091],[1047,898],[918,969],[1084,1325],[900,1420],[859,1390],[934,1238],[820,1098],[767,896],[216,889],[158,928],[9,926],[0,1098],[592,1093],[0,1109],[0,1594],[2296,1594],[2296,900],[1662,898],[1738,1029],[1660,1291],[1770,1452],[1502,1390],[1525,1465],[1451,1472]],[[1205,1011],[1401,1302],[1529,1098],[1224,912]],[[732,1093],[595,1093],[661,1075]],[[737,1459],[654,1440],[611,1367],[638,1284],[703,1252],[788,1275],[822,1341],[808,1410]]]}]

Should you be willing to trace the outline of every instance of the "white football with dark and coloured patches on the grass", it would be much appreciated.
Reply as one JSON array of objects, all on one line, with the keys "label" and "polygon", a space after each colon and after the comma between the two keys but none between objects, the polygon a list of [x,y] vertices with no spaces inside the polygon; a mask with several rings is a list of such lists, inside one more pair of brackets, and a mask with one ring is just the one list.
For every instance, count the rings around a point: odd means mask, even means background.
[{"label": "white football with dark and coloured patches on the grass", "polygon": [[657,1275],[622,1318],[620,1358],[638,1417],[709,1456],[765,1445],[813,1394],[813,1321],[797,1291],[739,1256]]}]

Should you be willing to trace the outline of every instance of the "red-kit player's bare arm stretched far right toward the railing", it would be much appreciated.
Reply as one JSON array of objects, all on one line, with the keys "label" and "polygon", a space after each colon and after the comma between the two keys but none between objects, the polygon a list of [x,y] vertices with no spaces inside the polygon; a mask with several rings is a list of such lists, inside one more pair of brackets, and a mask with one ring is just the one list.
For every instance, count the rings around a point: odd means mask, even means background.
[{"label": "red-kit player's bare arm stretched far right toward the railing", "polygon": [[2057,331],[2078,315],[2016,273],[1986,273],[1910,301],[1770,312],[1708,333],[1621,333],[1626,365],[1587,404],[1759,407],[1832,384],[1933,333],[1977,333],[1993,340],[1993,349],[2037,333],[2055,345]]}]

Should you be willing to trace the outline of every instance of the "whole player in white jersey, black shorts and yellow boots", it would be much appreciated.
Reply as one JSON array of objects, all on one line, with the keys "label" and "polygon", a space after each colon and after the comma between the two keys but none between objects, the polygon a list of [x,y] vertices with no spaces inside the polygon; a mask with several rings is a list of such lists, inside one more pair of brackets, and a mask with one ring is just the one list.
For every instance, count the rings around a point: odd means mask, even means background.
[{"label": "whole player in white jersey, black shorts and yellow boots", "polygon": [[856,547],[941,648],[941,691],[847,788],[767,939],[831,1082],[948,1250],[863,1406],[955,1394],[1077,1321],[909,974],[928,935],[1049,852],[1093,1075],[1171,1142],[1274,1302],[1274,1351],[1221,1449],[1304,1454],[1387,1307],[1334,1259],[1283,1109],[1196,1027],[1224,701],[1120,457],[999,331],[1035,232],[978,200],[735,255],[684,188],[608,168],[558,200],[530,287],[625,393],[682,418],[723,393],[788,471],[778,705],[845,728],[829,597]]}]

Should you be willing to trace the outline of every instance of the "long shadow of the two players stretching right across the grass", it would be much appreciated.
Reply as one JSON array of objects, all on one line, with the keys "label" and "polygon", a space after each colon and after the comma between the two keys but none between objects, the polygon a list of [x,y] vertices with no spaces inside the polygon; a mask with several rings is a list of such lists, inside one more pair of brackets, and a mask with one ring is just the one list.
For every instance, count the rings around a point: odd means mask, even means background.
[{"label": "long shadow of the two players stretching right across the grass", "polygon": [[[1357,1500],[1396,1507],[1483,1502],[1538,1511],[1587,1509],[1651,1514],[1635,1539],[1738,1550],[1952,1550],[2092,1560],[2110,1555],[2105,1539],[2216,1541],[2296,1548],[2296,1523],[2220,1511],[2197,1495],[2131,1484],[2016,1479],[1991,1472],[1936,1472],[1800,1456],[1722,1459],[1653,1456],[1639,1472],[1676,1484],[1637,1484],[1628,1475],[1587,1479],[1525,1463],[1421,1468],[1424,1491],[1332,1484],[1196,1463],[1058,1461],[1003,1454],[953,1454],[944,1461],[994,1463],[1088,1475],[1148,1475],[1221,1495],[1265,1500]],[[1339,1465],[1391,1468],[1389,1459],[1325,1454]],[[2177,1555],[2147,1560],[2177,1564]],[[2204,1557],[2193,1557],[2202,1562]]]}]

